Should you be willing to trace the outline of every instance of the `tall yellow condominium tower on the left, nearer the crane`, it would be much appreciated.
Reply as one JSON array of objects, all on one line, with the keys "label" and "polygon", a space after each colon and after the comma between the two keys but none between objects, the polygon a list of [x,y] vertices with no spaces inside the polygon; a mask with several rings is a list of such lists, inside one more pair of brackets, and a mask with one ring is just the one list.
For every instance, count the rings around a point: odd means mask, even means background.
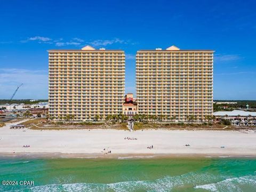
[{"label": "tall yellow condominium tower on the left, nearer the crane", "polygon": [[122,113],[125,54],[122,50],[49,51],[49,115],[87,121]]}]

